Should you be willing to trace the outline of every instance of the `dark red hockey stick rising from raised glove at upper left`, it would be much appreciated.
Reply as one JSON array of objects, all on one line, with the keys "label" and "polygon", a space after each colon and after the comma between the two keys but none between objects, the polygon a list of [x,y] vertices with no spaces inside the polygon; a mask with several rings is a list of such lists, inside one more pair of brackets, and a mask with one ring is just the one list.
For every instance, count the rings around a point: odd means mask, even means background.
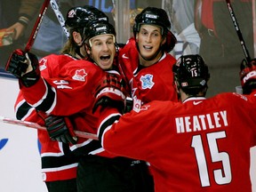
[{"label": "dark red hockey stick rising from raised glove at upper left", "polygon": [[44,14],[47,11],[49,3],[50,3],[50,0],[44,0],[44,4],[41,7],[41,10],[40,10],[39,15],[36,19],[34,28],[32,29],[32,32],[29,36],[28,43],[26,44],[24,52],[28,52],[31,49],[32,45],[34,44],[37,32],[38,32],[38,30],[41,26],[42,20],[44,19]]}]

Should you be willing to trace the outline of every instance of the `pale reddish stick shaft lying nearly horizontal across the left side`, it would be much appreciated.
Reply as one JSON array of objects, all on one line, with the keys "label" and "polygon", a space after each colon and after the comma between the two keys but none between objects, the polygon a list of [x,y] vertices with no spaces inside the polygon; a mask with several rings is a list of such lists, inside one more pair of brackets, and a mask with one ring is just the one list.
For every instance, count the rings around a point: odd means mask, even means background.
[{"label": "pale reddish stick shaft lying nearly horizontal across the left side", "polygon": [[[32,123],[32,122],[27,122],[27,121],[20,121],[20,120],[16,120],[16,119],[12,119],[12,118],[7,118],[4,116],[0,116],[0,122],[4,122],[6,124],[17,124],[17,125],[21,125],[21,126],[25,126],[25,127],[29,127],[29,128],[34,128],[37,130],[43,130],[46,131],[46,127],[41,126],[39,124],[36,123]],[[98,140],[98,137],[96,134],[92,134],[89,132],[80,132],[80,131],[74,131],[76,133],[77,137],[81,137],[81,138],[85,138],[85,139],[92,139],[92,140]]]}]

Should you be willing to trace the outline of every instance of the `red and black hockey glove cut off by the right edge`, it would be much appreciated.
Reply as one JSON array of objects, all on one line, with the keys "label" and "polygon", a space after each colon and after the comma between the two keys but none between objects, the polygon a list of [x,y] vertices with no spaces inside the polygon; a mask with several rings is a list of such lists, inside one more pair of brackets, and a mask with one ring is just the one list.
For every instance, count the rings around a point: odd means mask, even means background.
[{"label": "red and black hockey glove cut off by the right edge", "polygon": [[250,94],[256,89],[256,59],[252,59],[250,63],[242,60],[240,66],[240,80],[244,94]]}]

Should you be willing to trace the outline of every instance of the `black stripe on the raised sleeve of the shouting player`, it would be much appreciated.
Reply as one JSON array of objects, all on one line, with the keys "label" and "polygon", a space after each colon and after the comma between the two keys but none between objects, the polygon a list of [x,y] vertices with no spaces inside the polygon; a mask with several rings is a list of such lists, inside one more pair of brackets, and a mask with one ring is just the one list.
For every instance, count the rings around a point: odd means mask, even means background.
[{"label": "black stripe on the raised sleeve of the shouting player", "polygon": [[53,92],[50,84],[48,84],[47,82],[45,83],[48,88],[47,89],[48,91],[46,93],[45,99],[38,106],[36,106],[36,110],[48,111],[55,104],[54,101],[55,101],[56,93]]}]

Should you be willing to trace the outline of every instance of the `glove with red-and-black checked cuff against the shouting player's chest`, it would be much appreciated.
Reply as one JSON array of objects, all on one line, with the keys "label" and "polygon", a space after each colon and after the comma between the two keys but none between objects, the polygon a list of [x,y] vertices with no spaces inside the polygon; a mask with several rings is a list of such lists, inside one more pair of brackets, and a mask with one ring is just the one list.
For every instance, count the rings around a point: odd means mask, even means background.
[{"label": "glove with red-and-black checked cuff against the shouting player's chest", "polygon": [[127,95],[124,79],[120,76],[107,74],[96,88],[92,113],[101,106],[101,109],[106,107],[117,108],[123,114]]}]

